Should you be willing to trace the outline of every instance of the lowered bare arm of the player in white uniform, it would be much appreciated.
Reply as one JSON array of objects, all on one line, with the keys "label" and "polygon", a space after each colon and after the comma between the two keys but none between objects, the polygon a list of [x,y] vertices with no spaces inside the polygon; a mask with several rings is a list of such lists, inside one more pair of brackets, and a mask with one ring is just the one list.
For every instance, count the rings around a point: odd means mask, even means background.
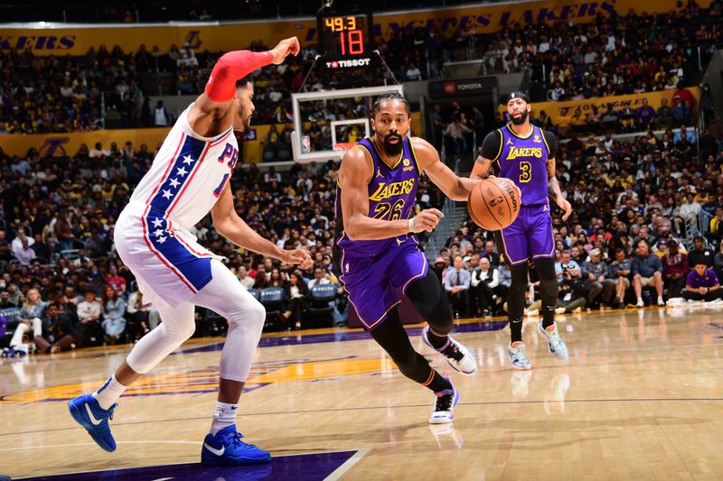
[{"label": "lowered bare arm of the player in white uniform", "polygon": [[221,198],[211,208],[211,217],[216,231],[239,247],[274,257],[286,264],[297,264],[302,269],[308,269],[314,264],[311,255],[304,249],[291,251],[280,249],[249,227],[233,208],[233,196],[228,184],[221,192]]}]

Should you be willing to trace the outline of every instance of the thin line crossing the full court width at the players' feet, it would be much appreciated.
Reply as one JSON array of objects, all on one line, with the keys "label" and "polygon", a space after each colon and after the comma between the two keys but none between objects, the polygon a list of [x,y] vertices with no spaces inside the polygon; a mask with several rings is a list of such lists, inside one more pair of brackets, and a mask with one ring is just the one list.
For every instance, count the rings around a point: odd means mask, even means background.
[{"label": "thin line crossing the full court width at the players' feet", "polygon": [[[719,397],[691,397],[691,398],[622,398],[622,399],[565,399],[564,402],[700,402],[700,401],[723,401],[723,398]],[[474,402],[460,402],[460,406],[484,406],[484,405],[511,405],[511,404],[541,404],[549,402],[549,400],[533,400],[533,401],[474,401]],[[246,412],[241,413],[240,416],[277,416],[279,414],[307,414],[313,412],[340,412],[340,411],[369,411],[369,410],[380,410],[380,409],[406,409],[406,408],[419,408],[425,407],[425,404],[396,404],[393,406],[365,406],[358,408],[331,408],[331,409],[312,409],[303,411],[279,411],[279,412]],[[154,420],[153,422],[178,422],[178,421],[198,421],[207,420],[208,416],[198,416],[192,418],[173,418],[167,420]],[[128,422],[114,422],[114,426],[127,426],[131,424],[147,424],[151,421],[128,421]],[[36,434],[41,432],[52,432],[58,430],[75,430],[78,426],[73,425],[68,428],[53,428],[52,430],[26,430],[20,432],[4,432],[0,433],[0,438],[3,436],[14,436],[18,434]]]}]

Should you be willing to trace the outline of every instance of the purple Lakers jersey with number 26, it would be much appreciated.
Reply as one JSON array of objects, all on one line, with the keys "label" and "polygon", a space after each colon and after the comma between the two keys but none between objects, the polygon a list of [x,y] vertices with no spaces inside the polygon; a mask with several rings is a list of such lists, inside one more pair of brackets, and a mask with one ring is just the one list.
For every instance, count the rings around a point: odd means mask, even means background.
[{"label": "purple Lakers jersey with number 26", "polygon": [[[373,172],[369,182],[369,217],[382,220],[398,220],[409,218],[417,199],[417,186],[419,183],[419,168],[417,158],[408,137],[404,138],[404,146],[399,160],[389,166],[381,160],[380,153],[371,141],[365,137],[357,143],[371,156]],[[382,240],[354,240],[344,233],[342,202],[342,188],[336,187],[336,236],[335,245],[341,248],[347,256],[371,256],[384,253],[391,245],[397,245],[394,237]],[[406,236],[400,236],[406,237]]]}]

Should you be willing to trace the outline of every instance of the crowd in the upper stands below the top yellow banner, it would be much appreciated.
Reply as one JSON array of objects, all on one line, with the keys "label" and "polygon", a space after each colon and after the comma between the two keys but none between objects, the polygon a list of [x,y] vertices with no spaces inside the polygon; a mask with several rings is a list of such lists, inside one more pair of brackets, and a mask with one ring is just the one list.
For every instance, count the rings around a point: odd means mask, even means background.
[{"label": "crowd in the upper stands below the top yellow banner", "polygon": [[[581,24],[517,24],[492,34],[476,34],[471,27],[449,31],[441,26],[407,27],[380,39],[377,47],[399,81],[437,78],[443,63],[455,60],[455,51],[467,51],[467,43],[473,42],[494,71],[534,66],[533,83],[548,85],[551,100],[680,89],[699,79],[695,48],[704,44],[715,49],[723,28],[715,21],[720,18],[719,0],[705,10],[693,0],[679,4],[669,14],[601,15]],[[263,51],[268,46],[256,41],[249,49]],[[311,45],[298,57],[264,70],[256,83],[257,123],[290,122],[290,94],[304,85],[310,70],[305,83],[310,91],[391,81],[381,64],[357,72],[312,70],[317,53]],[[110,127],[170,125],[172,118],[164,107],[151,106],[148,99],[157,94],[160,76],[167,74],[168,94],[196,94],[220,55],[193,51],[188,45],[172,45],[168,51],[142,45],[136,52],[101,45],[75,57],[5,51],[0,53],[0,133],[87,131],[104,123]],[[688,123],[690,110],[696,107],[691,100],[679,98],[670,106],[688,104],[680,107],[688,110],[681,113]],[[353,107],[329,111],[343,118],[358,114]],[[605,111],[591,115],[606,122]],[[644,117],[641,122],[650,124],[650,120]]]}]

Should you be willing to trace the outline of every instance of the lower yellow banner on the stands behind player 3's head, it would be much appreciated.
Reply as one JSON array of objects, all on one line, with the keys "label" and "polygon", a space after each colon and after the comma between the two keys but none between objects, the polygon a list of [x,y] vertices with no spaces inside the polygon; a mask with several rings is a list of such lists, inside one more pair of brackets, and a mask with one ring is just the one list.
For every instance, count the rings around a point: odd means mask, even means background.
[{"label": "lower yellow banner on the stands behind player 3's head", "polygon": [[[700,98],[700,92],[697,87],[687,88],[690,91],[696,103]],[[597,107],[598,112],[603,114],[607,110],[607,104],[613,105],[613,110],[622,111],[628,106],[632,109],[643,106],[643,98],[648,101],[648,105],[655,110],[661,106],[663,98],[668,100],[668,106],[672,107],[672,97],[675,90],[662,90],[659,92],[645,92],[643,94],[624,95],[615,97],[587,98],[585,100],[570,100],[567,102],[534,102],[532,103],[532,115],[540,116],[543,110],[552,118],[554,125],[583,125],[587,122],[587,114],[592,113],[593,106]],[[498,111],[504,115],[507,112],[507,106],[499,106]]]}]

